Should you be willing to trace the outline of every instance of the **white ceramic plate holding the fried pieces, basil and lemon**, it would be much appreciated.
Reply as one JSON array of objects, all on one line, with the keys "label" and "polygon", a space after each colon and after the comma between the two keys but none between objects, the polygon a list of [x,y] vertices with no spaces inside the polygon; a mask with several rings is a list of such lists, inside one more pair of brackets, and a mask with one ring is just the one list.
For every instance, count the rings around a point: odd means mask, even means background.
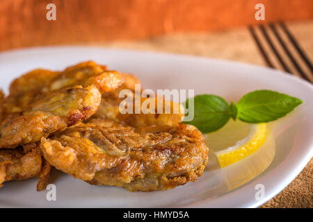
[{"label": "white ceramic plate holding the fried pieces, basil and lemon", "polygon": [[[255,89],[273,89],[305,103],[275,121],[276,151],[268,169],[236,189],[230,190],[225,185],[225,176],[236,174],[235,165],[206,171],[196,182],[182,187],[150,193],[91,186],[55,171],[52,182],[56,185],[56,201],[46,199],[48,191],[36,192],[37,179],[33,178],[4,183],[0,189],[0,207],[257,207],[294,180],[312,157],[313,87],[273,69],[163,53],[43,47],[0,53],[0,86],[7,90],[13,78],[34,68],[63,69],[83,60],[95,60],[111,69],[136,74],[143,87],[150,89],[195,89],[195,94],[217,94],[228,101],[237,101]],[[255,160],[250,161],[252,165]],[[263,198],[255,198],[258,184],[264,186]]]}]

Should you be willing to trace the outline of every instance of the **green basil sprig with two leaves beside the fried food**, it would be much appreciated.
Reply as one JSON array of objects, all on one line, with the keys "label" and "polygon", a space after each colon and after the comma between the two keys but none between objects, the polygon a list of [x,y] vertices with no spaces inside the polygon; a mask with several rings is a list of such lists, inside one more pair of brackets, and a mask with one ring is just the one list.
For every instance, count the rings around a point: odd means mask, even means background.
[{"label": "green basil sprig with two leaves beside the fried food", "polygon": [[[220,96],[195,96],[193,120],[185,123],[196,126],[202,133],[210,133],[225,126],[230,118],[246,123],[266,123],[284,117],[303,103],[296,97],[271,90],[257,90],[244,95],[237,104],[228,105]],[[184,103],[188,108],[188,99]]]}]

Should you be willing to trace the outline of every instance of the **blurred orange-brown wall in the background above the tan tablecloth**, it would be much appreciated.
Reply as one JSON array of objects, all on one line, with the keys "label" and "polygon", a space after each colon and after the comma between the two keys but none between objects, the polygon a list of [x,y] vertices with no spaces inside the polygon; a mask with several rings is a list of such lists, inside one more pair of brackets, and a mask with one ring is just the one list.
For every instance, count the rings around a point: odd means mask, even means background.
[{"label": "blurred orange-brown wall in the background above the tan tablecloth", "polygon": [[[56,21],[47,21],[47,3]],[[246,26],[258,22],[257,3],[265,22],[313,18],[312,0],[1,0],[0,50]]]}]

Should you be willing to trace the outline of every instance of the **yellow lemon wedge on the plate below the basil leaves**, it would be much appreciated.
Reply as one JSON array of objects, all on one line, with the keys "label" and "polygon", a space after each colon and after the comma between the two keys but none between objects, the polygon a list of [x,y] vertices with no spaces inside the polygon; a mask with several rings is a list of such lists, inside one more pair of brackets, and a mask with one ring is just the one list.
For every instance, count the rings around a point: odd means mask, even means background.
[{"label": "yellow lemon wedge on the plate below the basil leaves", "polygon": [[226,167],[255,153],[266,138],[266,124],[230,121],[220,130],[204,135],[207,146],[218,157],[220,167]]}]

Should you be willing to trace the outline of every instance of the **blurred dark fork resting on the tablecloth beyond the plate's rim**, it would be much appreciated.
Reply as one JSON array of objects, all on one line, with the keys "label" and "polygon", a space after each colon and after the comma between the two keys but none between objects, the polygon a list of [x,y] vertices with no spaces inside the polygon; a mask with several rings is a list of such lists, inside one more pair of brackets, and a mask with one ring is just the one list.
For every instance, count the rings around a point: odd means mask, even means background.
[{"label": "blurred dark fork resting on the tablecloth beyond the plate's rim", "polygon": [[[273,58],[275,58],[287,73],[300,76],[313,83],[312,62],[283,22],[278,22],[277,24],[271,23],[268,26],[249,26],[248,29],[268,67],[280,69],[273,61]],[[259,36],[257,35],[257,31]],[[294,49],[294,52],[291,52],[290,49]],[[304,70],[304,68],[306,69]]]}]

